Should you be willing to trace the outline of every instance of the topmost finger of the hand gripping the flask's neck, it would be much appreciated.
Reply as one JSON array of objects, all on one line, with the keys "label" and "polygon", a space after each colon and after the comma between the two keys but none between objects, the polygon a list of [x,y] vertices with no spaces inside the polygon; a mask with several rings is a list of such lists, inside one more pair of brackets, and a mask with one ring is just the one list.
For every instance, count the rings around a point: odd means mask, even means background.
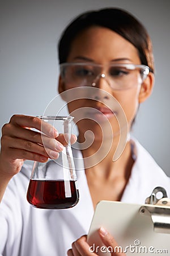
[{"label": "topmost finger of the hand gripping the flask's neck", "polygon": [[10,119],[10,123],[22,127],[35,128],[52,138],[56,138],[58,136],[58,131],[52,125],[42,121],[38,117],[32,117],[29,115],[13,115]]}]

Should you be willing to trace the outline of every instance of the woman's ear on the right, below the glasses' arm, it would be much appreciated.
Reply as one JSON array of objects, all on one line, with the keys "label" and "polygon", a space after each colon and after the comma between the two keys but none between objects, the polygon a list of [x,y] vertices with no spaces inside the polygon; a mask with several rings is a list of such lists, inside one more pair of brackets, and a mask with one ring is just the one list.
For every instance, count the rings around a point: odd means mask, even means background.
[{"label": "woman's ear on the right, below the glasses' arm", "polygon": [[141,90],[139,92],[139,103],[146,101],[150,97],[152,90],[154,88],[155,76],[153,73],[149,73],[145,81],[141,85]]}]

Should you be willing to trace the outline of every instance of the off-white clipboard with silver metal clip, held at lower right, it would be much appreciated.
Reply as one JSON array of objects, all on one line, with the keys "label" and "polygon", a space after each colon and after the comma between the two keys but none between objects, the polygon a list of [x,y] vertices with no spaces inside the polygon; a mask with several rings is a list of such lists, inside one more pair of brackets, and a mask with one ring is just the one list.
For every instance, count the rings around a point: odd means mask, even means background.
[{"label": "off-white clipboard with silver metal clip, held at lower right", "polygon": [[[156,195],[162,193],[157,199]],[[116,249],[102,243],[97,230],[103,226],[118,243]],[[100,201],[87,236],[90,251],[109,256],[117,250],[129,255],[170,255],[170,200],[156,187],[144,205]]]}]

